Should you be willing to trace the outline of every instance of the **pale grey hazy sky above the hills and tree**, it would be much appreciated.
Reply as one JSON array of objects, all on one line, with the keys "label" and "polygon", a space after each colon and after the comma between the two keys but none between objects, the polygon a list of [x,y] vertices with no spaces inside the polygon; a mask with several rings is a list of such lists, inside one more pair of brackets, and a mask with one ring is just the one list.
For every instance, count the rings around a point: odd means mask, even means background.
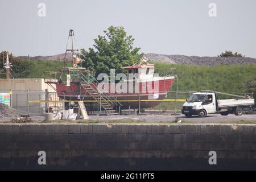
[{"label": "pale grey hazy sky above the hills and tree", "polygon": [[[45,3],[46,17],[38,16]],[[217,17],[210,17],[216,3]],[[109,26],[123,26],[144,53],[217,56],[225,50],[256,57],[255,0],[0,0],[0,51],[15,56],[65,52],[69,29],[77,48]]]}]

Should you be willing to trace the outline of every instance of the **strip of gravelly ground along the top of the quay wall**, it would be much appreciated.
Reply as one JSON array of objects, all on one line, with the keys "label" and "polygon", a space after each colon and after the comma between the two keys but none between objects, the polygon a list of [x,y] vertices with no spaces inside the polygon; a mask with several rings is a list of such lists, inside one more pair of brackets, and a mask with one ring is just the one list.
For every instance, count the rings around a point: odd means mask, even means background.
[{"label": "strip of gravelly ground along the top of the quay wall", "polygon": [[[191,117],[186,118],[184,115],[164,115],[164,114],[147,114],[147,115],[89,115],[89,119],[79,119],[76,121],[50,121],[45,122],[44,116],[31,116],[31,122],[28,123],[177,123],[179,119],[182,123],[256,123],[254,114],[244,114],[236,116],[233,114],[225,117],[220,114],[208,115],[205,118]],[[0,123],[16,123],[11,121],[13,117],[2,117]]]}]

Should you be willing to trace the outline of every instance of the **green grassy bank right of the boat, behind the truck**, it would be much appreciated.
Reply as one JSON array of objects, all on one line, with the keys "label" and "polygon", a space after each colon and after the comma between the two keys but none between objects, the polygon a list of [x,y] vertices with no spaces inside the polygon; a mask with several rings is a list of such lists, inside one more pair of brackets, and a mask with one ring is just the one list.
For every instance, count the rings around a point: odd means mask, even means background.
[{"label": "green grassy bank right of the boat, behind the truck", "polygon": [[[179,77],[179,90],[199,91],[207,89],[226,93],[246,92],[245,82],[252,80],[256,72],[255,64],[210,67],[155,63],[156,73],[168,73],[171,68],[176,68],[175,74]],[[172,87],[172,90],[176,89],[176,82]],[[175,94],[171,94],[168,98],[175,98]],[[188,98],[188,94],[179,94],[179,98]]]}]

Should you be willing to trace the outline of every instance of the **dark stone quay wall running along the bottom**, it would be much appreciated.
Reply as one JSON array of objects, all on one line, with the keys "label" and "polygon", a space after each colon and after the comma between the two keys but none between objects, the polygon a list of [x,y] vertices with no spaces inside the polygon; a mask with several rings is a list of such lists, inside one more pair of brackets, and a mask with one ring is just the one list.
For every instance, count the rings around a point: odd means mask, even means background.
[{"label": "dark stone quay wall running along the bottom", "polygon": [[[256,125],[1,124],[0,169],[256,169]],[[46,151],[45,166],[38,151]],[[209,165],[209,151],[217,165]]]}]

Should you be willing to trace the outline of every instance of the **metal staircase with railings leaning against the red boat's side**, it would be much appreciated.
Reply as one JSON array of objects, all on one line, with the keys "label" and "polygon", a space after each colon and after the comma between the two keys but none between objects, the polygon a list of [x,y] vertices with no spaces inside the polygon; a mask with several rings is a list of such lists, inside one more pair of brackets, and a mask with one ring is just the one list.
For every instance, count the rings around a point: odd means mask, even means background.
[{"label": "metal staircase with railings leaning against the red boat's side", "polygon": [[122,106],[120,102],[114,98],[110,93],[99,93],[97,91],[97,85],[99,82],[89,72],[81,73],[81,86],[86,90],[87,93],[100,105],[100,110],[104,109],[108,115],[118,114],[113,107]]}]

